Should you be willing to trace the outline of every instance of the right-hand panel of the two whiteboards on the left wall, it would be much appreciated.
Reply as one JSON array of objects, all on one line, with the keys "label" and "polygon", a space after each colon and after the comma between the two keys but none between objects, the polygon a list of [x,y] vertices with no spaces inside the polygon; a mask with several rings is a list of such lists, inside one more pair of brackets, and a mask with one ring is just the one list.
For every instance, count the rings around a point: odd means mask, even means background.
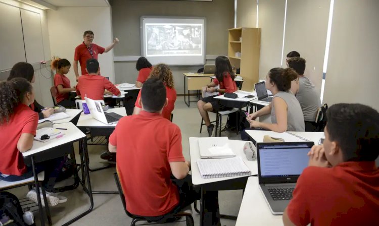
[{"label": "right-hand panel of the two whiteboards on the left wall", "polygon": [[24,32],[26,62],[44,61],[41,19],[38,13],[21,10],[22,29]]}]

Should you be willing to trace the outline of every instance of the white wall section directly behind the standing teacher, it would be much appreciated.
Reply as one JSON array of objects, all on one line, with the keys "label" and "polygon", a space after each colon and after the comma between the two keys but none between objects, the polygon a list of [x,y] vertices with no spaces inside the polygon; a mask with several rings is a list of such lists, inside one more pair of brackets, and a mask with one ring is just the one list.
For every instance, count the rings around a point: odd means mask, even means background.
[{"label": "white wall section directly behind the standing teacher", "polygon": [[[93,43],[106,47],[113,42],[112,15],[110,7],[59,7],[57,11],[48,11],[51,56],[65,58],[71,63],[68,73],[71,84],[76,84],[72,67],[75,47],[83,41],[83,33],[94,33]],[[118,45],[127,40],[120,40]],[[117,47],[117,45],[116,45]],[[113,49],[99,54],[101,74],[115,82]],[[80,66],[78,66],[80,73]]]}]

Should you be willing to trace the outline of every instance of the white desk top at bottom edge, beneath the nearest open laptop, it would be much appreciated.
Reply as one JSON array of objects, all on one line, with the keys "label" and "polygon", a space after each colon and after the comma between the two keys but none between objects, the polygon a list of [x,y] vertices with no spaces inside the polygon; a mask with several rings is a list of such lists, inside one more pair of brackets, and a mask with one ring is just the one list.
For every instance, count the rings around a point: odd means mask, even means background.
[{"label": "white desk top at bottom edge, beneath the nearest open laptop", "polygon": [[283,225],[281,215],[272,215],[258,187],[258,177],[249,177],[235,226]]}]

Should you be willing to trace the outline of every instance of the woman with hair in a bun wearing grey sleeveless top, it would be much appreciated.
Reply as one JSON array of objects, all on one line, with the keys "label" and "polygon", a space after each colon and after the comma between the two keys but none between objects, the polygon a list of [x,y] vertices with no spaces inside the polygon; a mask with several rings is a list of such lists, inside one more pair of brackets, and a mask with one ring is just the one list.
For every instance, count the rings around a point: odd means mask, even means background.
[{"label": "woman with hair in a bun wearing grey sleeveless top", "polygon": [[[299,101],[290,91],[291,82],[297,79],[297,73],[291,68],[273,68],[266,76],[266,89],[270,90],[273,99],[270,104],[250,114],[246,120],[250,128],[263,128],[275,132],[304,131],[304,116]],[[271,123],[255,121],[256,118],[271,114]],[[248,140],[245,131],[241,139]]]}]

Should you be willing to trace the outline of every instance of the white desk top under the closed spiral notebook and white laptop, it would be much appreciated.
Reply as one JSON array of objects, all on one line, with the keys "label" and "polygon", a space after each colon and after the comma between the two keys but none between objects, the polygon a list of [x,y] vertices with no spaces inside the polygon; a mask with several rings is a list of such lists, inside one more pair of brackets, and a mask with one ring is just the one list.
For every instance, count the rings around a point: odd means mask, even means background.
[{"label": "white desk top under the closed spiral notebook and white laptop", "polygon": [[[198,164],[196,161],[200,159],[200,152],[199,152],[199,138],[197,137],[190,137],[189,138],[189,154],[191,155],[191,175],[192,175],[192,183],[194,185],[202,185],[217,181],[225,181],[233,178],[241,178],[246,176],[236,176],[236,177],[223,177],[223,178],[210,178],[210,179],[204,179],[200,176]],[[251,170],[251,175],[258,174],[258,163],[257,161],[248,161],[246,158],[246,155],[244,153],[244,145],[247,141],[240,141],[240,140],[229,140],[230,147],[232,148],[233,152],[242,158],[242,160],[246,163],[246,165]]]}]

